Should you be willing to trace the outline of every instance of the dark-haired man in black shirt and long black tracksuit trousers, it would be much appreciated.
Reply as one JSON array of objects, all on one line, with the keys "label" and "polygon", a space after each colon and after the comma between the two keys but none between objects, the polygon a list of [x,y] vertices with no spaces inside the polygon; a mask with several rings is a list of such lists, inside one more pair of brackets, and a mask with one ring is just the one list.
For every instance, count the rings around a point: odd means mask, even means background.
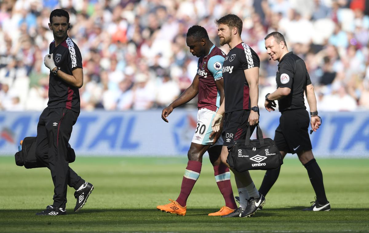
[{"label": "dark-haired man in black shirt and long black tracksuit trousers", "polygon": [[45,66],[51,71],[49,101],[37,125],[36,156],[51,171],[54,203],[36,215],[65,215],[67,185],[76,189],[75,212],[83,207],[93,185],[85,182],[68,165],[68,141],[80,112],[78,89],[83,85],[81,53],[68,37],[68,12],[62,9],[53,10],[49,28],[54,34],[50,54],[44,58]]}]

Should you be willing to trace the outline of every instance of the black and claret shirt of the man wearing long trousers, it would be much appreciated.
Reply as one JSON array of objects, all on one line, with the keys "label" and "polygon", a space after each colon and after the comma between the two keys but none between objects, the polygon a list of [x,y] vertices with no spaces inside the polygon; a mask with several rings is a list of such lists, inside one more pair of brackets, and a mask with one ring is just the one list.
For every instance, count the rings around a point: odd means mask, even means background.
[{"label": "black and claret shirt of the man wearing long trousers", "polygon": [[[49,54],[53,53],[56,67],[66,74],[73,75],[75,67],[82,68],[82,56],[77,45],[67,38],[55,47],[51,42]],[[79,90],[50,72],[48,108],[68,108],[80,112]]]}]

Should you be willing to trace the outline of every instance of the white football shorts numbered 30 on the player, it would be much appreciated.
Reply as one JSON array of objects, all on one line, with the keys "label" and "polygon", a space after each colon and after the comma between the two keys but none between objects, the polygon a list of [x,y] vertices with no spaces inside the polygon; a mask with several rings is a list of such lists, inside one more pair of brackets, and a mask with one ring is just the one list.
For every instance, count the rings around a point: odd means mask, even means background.
[{"label": "white football shorts numbered 30 on the player", "polygon": [[[196,144],[202,145],[211,145],[213,144],[213,138],[210,139],[210,133],[213,131],[211,129],[211,122],[213,122],[213,118],[216,112],[211,111],[207,108],[201,108],[197,112],[197,125],[195,129],[195,133],[192,138],[192,142]],[[223,145],[223,139],[220,136],[217,142],[213,146]]]}]

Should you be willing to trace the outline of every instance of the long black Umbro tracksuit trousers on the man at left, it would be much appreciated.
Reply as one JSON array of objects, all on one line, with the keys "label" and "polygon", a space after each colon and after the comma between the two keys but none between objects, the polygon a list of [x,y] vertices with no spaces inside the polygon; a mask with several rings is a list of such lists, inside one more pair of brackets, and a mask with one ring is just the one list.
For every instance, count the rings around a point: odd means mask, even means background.
[{"label": "long black Umbro tracksuit trousers on the man at left", "polygon": [[67,108],[45,108],[37,125],[36,156],[51,171],[54,206],[65,209],[67,185],[76,190],[85,182],[69,167],[67,146],[79,112]]}]

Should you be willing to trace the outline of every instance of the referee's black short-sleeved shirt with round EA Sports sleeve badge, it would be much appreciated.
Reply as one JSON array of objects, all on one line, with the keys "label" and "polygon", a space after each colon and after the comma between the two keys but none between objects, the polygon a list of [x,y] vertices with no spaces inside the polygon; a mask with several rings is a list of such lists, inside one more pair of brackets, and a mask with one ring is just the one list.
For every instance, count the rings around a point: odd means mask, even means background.
[{"label": "referee's black short-sleeved shirt with round EA Sports sleeve badge", "polygon": [[279,111],[291,109],[306,109],[304,91],[311,84],[303,59],[289,52],[283,56],[278,64],[276,76],[277,88],[288,87],[291,93],[278,100]]}]

